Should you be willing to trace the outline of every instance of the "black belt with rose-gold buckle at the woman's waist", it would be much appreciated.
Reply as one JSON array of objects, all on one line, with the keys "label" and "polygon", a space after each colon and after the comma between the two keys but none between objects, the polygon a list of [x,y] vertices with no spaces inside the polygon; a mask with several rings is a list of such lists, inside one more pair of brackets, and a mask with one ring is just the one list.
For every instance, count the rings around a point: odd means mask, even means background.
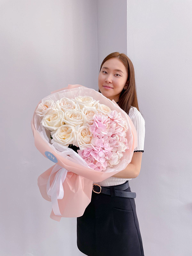
[{"label": "black belt with rose-gold buckle at the woman's waist", "polygon": [[[111,195],[111,196],[121,196],[121,197],[129,197],[129,198],[135,198],[136,193],[135,192],[129,192],[129,191],[123,191],[129,187],[129,181],[126,182],[125,184],[115,186],[114,189],[112,189],[114,186],[109,186],[108,187],[103,187],[98,184],[93,184],[93,192],[95,193],[103,193],[106,195]],[[114,191],[113,195],[111,191]]]}]

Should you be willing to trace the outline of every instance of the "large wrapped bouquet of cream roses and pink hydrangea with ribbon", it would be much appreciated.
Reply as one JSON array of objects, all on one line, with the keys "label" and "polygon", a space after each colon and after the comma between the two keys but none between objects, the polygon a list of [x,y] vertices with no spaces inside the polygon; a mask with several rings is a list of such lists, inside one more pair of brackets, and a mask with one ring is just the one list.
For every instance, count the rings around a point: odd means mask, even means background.
[{"label": "large wrapped bouquet of cream roses and pink hydrangea with ribbon", "polygon": [[41,195],[52,202],[50,218],[56,221],[82,216],[93,180],[123,170],[137,146],[135,127],[117,103],[79,84],[42,99],[31,128],[37,149],[56,163],[38,177]]}]

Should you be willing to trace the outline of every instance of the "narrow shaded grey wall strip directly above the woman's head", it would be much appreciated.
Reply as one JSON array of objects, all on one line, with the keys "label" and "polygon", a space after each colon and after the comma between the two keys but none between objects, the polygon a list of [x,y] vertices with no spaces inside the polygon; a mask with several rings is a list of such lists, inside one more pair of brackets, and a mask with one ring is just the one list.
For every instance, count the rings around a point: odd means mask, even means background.
[{"label": "narrow shaded grey wall strip directly above the woman's head", "polygon": [[97,0],[98,74],[112,52],[127,54],[127,1]]}]

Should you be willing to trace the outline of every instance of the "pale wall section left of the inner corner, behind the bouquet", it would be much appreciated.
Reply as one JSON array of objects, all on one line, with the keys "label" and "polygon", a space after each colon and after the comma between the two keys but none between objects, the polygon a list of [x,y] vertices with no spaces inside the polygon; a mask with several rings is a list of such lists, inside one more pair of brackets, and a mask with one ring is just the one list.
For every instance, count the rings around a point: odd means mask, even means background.
[{"label": "pale wall section left of the inner corner, behind the bouquet", "polygon": [[53,165],[34,146],[31,118],[51,91],[97,86],[96,1],[0,1],[0,255],[82,255],[76,218],[49,217],[38,176]]}]

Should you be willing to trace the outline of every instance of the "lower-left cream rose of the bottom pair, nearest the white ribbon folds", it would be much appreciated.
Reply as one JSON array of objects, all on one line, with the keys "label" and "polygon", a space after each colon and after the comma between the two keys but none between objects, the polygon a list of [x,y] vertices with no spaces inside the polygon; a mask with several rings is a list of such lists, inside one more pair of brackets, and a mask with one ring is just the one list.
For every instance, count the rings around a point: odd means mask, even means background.
[{"label": "lower-left cream rose of the bottom pair, nearest the white ribbon folds", "polygon": [[56,131],[51,132],[52,140],[51,142],[57,142],[64,146],[69,146],[73,144],[78,147],[77,141],[77,132],[75,127],[72,125],[64,124],[61,125]]}]

